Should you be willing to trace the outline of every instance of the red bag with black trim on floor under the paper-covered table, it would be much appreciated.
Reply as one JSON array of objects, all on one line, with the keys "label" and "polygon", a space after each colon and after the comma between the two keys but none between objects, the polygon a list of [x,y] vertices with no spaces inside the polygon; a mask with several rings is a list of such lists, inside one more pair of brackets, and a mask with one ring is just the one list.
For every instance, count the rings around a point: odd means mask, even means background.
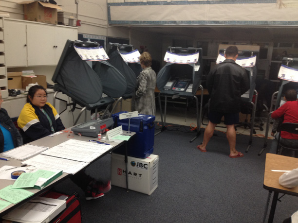
[{"label": "red bag with black trim on floor under the paper-covered table", "polygon": [[73,195],[67,195],[56,191],[48,191],[41,195],[41,197],[48,197],[57,199],[65,197],[66,208],[58,214],[51,223],[81,223],[81,205],[78,194],[75,192]]}]

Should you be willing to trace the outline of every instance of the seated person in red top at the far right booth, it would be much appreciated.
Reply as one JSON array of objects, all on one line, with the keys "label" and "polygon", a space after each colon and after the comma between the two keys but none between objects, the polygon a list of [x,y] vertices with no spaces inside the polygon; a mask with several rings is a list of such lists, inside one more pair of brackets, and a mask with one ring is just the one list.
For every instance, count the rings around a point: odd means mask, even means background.
[{"label": "seated person in red top at the far right booth", "polygon": [[[296,90],[293,90],[293,89],[287,90],[284,98],[286,100],[286,103],[284,103],[277,110],[275,110],[271,114],[271,118],[280,119],[283,117],[282,123],[284,122],[298,123],[298,101],[297,101]],[[273,126],[273,131],[271,132],[271,136],[274,136],[275,129],[276,129],[276,124],[274,124]],[[281,131],[280,142],[288,146],[298,147],[298,135]],[[292,152],[292,151],[283,150],[281,154],[287,155],[287,153],[289,152]]]}]

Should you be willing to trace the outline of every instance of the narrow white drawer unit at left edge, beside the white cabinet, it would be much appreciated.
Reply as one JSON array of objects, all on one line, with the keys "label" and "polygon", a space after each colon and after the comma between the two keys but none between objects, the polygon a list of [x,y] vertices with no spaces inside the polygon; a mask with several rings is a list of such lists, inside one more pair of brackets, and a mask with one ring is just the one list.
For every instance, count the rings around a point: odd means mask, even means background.
[{"label": "narrow white drawer unit at left edge, beside the white cabinet", "polygon": [[8,98],[3,17],[0,17],[0,91],[2,98]]}]

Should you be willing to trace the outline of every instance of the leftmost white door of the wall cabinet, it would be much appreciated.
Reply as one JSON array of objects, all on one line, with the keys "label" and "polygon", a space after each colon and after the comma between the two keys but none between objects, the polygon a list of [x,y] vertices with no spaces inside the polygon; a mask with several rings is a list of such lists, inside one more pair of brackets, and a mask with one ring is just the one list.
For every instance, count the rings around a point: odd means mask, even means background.
[{"label": "leftmost white door of the wall cabinet", "polygon": [[26,24],[4,20],[6,67],[27,66]]}]

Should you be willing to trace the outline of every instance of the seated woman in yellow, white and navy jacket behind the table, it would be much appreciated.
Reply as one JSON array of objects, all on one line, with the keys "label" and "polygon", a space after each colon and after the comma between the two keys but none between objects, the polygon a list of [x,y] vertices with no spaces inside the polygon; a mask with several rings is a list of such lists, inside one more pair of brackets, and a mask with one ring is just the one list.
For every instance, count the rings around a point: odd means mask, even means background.
[{"label": "seated woman in yellow, white and navy jacket behind the table", "polygon": [[[52,104],[47,103],[47,91],[43,86],[35,85],[29,88],[27,103],[24,105],[18,119],[19,128],[31,140],[49,136],[65,127]],[[85,191],[86,200],[104,196],[111,189],[111,182],[103,184],[87,175],[84,170],[72,175],[71,180]]]}]

